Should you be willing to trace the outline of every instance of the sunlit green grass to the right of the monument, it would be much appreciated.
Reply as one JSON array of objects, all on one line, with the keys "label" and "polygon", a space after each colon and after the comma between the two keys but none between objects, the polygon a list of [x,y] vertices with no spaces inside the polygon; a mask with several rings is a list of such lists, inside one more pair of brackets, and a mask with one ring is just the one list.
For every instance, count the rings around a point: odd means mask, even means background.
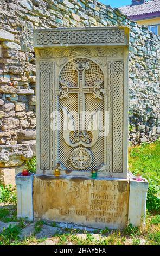
[{"label": "sunlit green grass to the right of the monument", "polygon": [[160,141],[142,144],[129,151],[129,169],[149,182],[147,209],[160,213]]}]

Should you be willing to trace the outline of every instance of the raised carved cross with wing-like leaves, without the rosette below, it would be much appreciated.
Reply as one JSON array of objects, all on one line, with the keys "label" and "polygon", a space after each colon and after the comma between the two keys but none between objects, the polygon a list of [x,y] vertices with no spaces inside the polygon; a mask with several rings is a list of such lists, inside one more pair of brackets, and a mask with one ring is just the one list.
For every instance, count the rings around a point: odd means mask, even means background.
[{"label": "raised carved cross with wing-like leaves, without the rosette below", "polygon": [[[100,100],[103,99],[103,96],[101,93],[104,94],[104,90],[100,89],[101,84],[103,83],[102,80],[96,81],[94,83],[94,86],[91,87],[86,87],[85,86],[85,70],[89,69],[89,61],[84,62],[82,61],[81,63],[75,63],[72,62],[72,69],[77,71],[78,74],[78,85],[77,87],[71,87],[68,85],[67,81],[61,80],[60,83],[62,84],[62,90],[61,90],[61,95],[60,99],[67,98],[69,94],[76,93],[78,95],[78,116],[79,116],[79,127],[81,127],[81,124],[83,124],[83,113],[85,111],[85,94],[93,94],[95,98],[98,98]],[[88,133],[82,128],[80,128],[77,132],[75,131],[75,126],[74,126],[74,120],[69,115],[67,112],[67,109],[65,107],[62,107],[63,110],[63,115],[64,115],[64,120],[65,123],[67,121],[70,121],[70,127],[68,127],[67,130],[63,131],[63,137],[65,139],[65,142],[70,145],[71,147],[77,147],[78,145],[83,145],[85,147],[92,147],[98,139],[99,136],[99,127],[98,127],[98,111],[95,112],[92,115],[92,120],[95,118],[97,120],[97,127],[95,127],[95,123],[91,120],[91,124],[89,125],[87,132],[92,133],[92,141],[89,140],[89,135]],[[93,127],[94,123],[94,127]],[[74,131],[74,139],[71,141],[69,139],[69,133],[71,131]]]}]

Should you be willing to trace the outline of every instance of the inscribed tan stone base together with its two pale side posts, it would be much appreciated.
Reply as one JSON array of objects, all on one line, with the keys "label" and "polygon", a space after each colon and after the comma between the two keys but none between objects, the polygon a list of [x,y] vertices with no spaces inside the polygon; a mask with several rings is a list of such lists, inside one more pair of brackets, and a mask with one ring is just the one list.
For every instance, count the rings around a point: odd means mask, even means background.
[{"label": "inscribed tan stone base together with its two pale side posts", "polygon": [[73,176],[16,176],[17,217],[124,229],[145,225],[148,182]]}]

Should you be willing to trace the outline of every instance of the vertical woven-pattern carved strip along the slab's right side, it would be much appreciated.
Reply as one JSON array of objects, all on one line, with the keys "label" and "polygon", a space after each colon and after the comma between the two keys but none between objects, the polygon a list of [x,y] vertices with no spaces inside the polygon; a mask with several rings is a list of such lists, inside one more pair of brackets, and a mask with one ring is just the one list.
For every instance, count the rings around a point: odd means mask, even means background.
[{"label": "vertical woven-pattern carved strip along the slab's right side", "polygon": [[110,131],[107,136],[108,171],[123,172],[123,61],[108,63],[108,111]]}]

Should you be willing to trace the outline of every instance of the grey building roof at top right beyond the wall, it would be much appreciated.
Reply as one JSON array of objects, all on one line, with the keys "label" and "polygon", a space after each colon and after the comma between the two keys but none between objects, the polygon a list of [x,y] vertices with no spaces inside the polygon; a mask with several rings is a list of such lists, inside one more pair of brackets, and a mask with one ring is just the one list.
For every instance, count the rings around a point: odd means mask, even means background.
[{"label": "grey building roof at top right beyond the wall", "polygon": [[139,5],[127,5],[124,7],[119,7],[118,9],[120,9],[123,14],[126,14],[129,17],[158,13],[160,11],[160,0],[148,1]]}]

